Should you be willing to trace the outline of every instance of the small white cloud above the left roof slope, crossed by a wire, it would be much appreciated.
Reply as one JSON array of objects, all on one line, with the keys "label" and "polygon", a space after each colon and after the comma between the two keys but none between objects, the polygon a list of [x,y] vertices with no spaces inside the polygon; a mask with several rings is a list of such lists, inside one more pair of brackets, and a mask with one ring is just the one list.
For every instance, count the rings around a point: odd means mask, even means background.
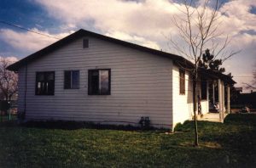
[{"label": "small white cloud above the left roof slope, crossed by a wire", "polygon": [[47,36],[42,36],[30,31],[17,32],[10,29],[1,29],[0,38],[4,42],[9,43],[9,45],[11,45],[15,49],[28,52],[36,52],[37,50],[57,41],[57,39],[51,38],[49,36],[55,36],[56,38],[61,39],[62,37],[70,34],[69,32],[67,32],[51,35],[47,31],[38,31],[38,29],[32,29],[32,31],[37,31]]}]

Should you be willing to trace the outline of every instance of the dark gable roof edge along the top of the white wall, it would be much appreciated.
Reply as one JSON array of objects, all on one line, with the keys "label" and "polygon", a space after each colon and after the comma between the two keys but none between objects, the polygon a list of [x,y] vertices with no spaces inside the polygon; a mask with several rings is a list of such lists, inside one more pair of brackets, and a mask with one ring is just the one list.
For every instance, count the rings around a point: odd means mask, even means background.
[{"label": "dark gable roof edge along the top of the white wall", "polygon": [[69,42],[72,42],[73,40],[75,40],[79,37],[83,37],[83,36],[93,36],[93,37],[102,39],[104,41],[117,43],[117,44],[125,46],[127,48],[134,48],[134,49],[146,52],[146,53],[152,53],[154,55],[158,55],[158,56],[161,56],[161,57],[166,57],[166,58],[174,60],[175,63],[183,64],[185,67],[193,66],[193,64],[191,62],[189,62],[189,60],[184,59],[183,57],[172,54],[172,53],[166,53],[166,52],[162,52],[162,51],[155,50],[155,49],[152,49],[152,48],[146,48],[146,47],[143,47],[143,46],[131,43],[131,42],[121,41],[119,39],[115,39],[115,38],[112,38],[112,37],[109,37],[109,36],[103,36],[101,34],[97,34],[97,33],[92,32],[92,31],[85,31],[83,29],[80,29],[79,31],[76,31],[73,34],[62,38],[61,40],[49,45],[48,47],[43,48],[43,49],[39,50],[36,53],[32,53],[31,55],[28,55],[24,59],[20,59],[15,64],[10,64],[7,67],[7,70],[18,71],[20,69],[20,67],[32,62],[33,60],[44,57],[44,55],[55,51],[55,49],[61,48],[65,45],[67,45]]}]

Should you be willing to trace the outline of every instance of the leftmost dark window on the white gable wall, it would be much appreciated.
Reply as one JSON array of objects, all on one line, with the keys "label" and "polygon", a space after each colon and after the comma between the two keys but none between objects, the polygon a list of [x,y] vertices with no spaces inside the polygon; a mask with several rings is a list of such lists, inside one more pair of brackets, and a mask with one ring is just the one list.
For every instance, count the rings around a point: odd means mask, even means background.
[{"label": "leftmost dark window on the white gable wall", "polygon": [[55,72],[37,72],[36,95],[55,94]]}]

